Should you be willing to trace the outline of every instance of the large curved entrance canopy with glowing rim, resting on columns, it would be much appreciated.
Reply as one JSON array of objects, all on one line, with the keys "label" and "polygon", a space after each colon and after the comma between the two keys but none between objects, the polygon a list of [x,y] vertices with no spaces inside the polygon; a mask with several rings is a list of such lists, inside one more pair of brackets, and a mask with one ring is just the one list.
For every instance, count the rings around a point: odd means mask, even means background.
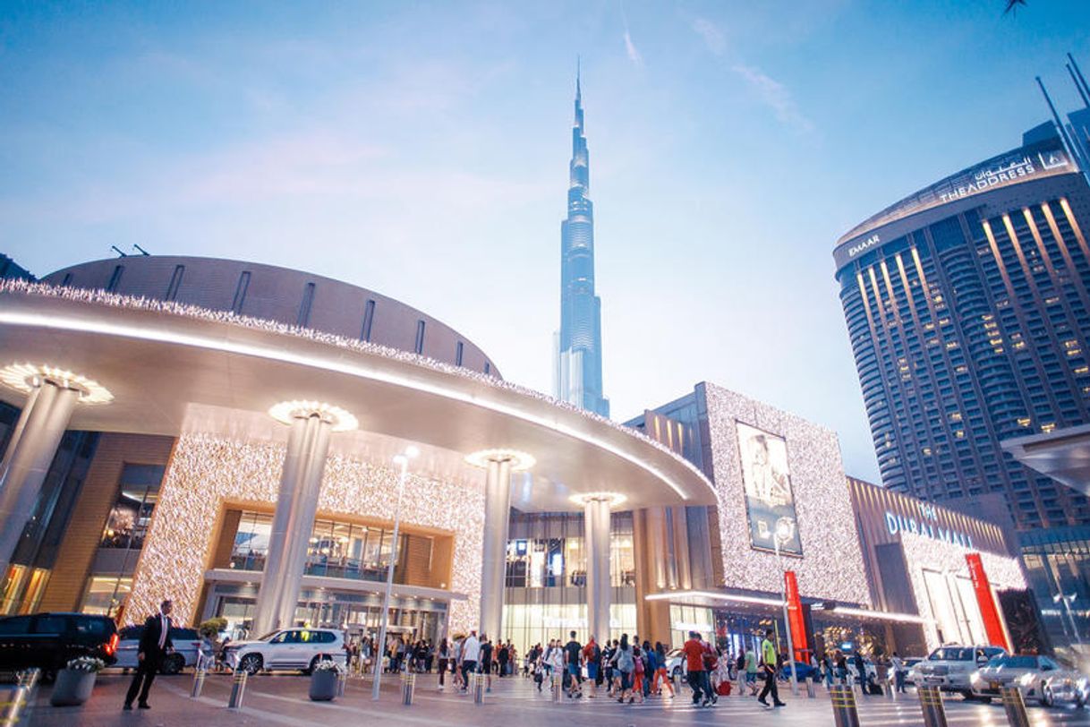
[{"label": "large curved entrance canopy with glowing rim, resting on columns", "polygon": [[[0,366],[49,364],[110,390],[110,403],[78,407],[72,428],[177,436],[193,407],[252,419],[283,400],[327,401],[354,414],[366,433],[459,458],[495,448],[532,455],[530,477],[513,488],[520,509],[574,510],[573,496],[596,492],[623,495],[626,509],[715,501],[711,483],[687,460],[544,395],[403,351],[230,313],[4,281],[0,351]],[[0,387],[0,398],[21,404],[23,395]]]}]

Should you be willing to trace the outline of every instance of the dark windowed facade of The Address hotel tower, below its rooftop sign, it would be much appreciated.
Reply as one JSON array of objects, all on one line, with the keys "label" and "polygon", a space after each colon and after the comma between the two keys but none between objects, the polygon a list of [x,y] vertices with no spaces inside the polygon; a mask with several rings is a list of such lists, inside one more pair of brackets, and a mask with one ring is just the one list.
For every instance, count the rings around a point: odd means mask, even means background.
[{"label": "dark windowed facade of The Address hotel tower, below its rooftop sign", "polygon": [[1020,530],[1090,501],[1003,452],[1090,422],[1090,205],[1078,175],[885,240],[837,272],[882,482],[921,499],[1000,492]]}]

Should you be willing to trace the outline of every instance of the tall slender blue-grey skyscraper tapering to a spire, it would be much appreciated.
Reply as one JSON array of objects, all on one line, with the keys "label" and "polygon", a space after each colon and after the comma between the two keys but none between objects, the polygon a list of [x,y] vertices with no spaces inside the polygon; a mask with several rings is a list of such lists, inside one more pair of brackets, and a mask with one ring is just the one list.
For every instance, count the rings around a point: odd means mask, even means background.
[{"label": "tall slender blue-grey skyscraper tapering to a spire", "polygon": [[557,399],[609,416],[602,390],[602,301],[594,293],[594,205],[583,134],[583,100],[576,73],[568,218],[560,223],[560,331],[554,348]]}]

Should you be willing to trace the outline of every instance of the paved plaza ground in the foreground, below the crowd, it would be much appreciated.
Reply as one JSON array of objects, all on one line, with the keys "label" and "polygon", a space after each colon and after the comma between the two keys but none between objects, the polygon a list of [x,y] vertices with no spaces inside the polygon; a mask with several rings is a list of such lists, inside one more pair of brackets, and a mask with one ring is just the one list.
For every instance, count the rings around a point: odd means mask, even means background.
[{"label": "paved plaza ground in the foreground, below the crowd", "polygon": [[[311,702],[308,680],[295,675],[258,676],[246,686],[243,707],[228,710],[231,690],[229,675],[209,675],[199,699],[190,699],[192,675],[159,677],[152,691],[152,710],[122,712],[129,677],[101,674],[90,701],[82,707],[49,705],[49,686],[38,688],[26,720],[43,727],[206,727],[214,725],[246,725],[268,727],[305,727],[324,725],[380,724],[387,726],[474,725],[481,727],[644,727],[651,725],[739,725],[743,727],[815,727],[833,725],[829,699],[823,689],[815,699],[806,692],[791,696],[784,689],[786,707],[763,707],[753,698],[720,696],[714,707],[694,707],[688,693],[679,690],[670,699],[652,698],[643,705],[620,705],[613,700],[567,700],[556,704],[547,690],[538,693],[531,681],[522,678],[496,679],[485,704],[473,699],[436,689],[434,675],[421,676],[415,703],[404,706],[400,701],[400,684],[396,677],[384,681],[382,699],[371,699],[371,681],[352,679],[344,696],[335,702]],[[916,694],[887,698],[860,698],[861,727],[922,727]],[[1043,710],[1030,707],[1033,727],[1050,725],[1090,726],[1090,710],[1070,706]],[[1007,724],[1003,707],[966,703],[952,698],[946,703],[950,727],[1003,727]]]}]

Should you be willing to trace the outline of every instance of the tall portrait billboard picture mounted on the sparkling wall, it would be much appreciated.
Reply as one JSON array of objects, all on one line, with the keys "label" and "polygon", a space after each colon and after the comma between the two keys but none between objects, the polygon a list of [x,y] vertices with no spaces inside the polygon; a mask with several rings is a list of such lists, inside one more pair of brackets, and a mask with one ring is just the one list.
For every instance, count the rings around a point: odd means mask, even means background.
[{"label": "tall portrait billboard picture mounted on the sparkling wall", "polygon": [[795,516],[795,493],[787,464],[787,441],[775,434],[736,422],[741,455],[746,513],[749,516],[750,545],[775,550],[776,523],[786,519],[790,537],[780,542],[785,555],[802,555],[802,541]]}]

